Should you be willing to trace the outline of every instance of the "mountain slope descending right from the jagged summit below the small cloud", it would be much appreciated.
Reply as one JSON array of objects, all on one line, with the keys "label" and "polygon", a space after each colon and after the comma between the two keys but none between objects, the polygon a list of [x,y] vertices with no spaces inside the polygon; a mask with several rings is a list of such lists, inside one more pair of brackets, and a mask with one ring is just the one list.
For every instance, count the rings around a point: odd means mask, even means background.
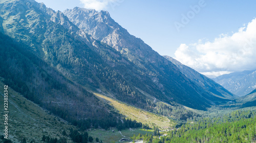
[{"label": "mountain slope descending right from the jagged summit below the small cloud", "polygon": [[[153,81],[154,83],[150,87],[153,89],[153,86],[156,86],[160,90],[160,93],[155,94],[158,96],[157,98],[165,101],[174,100],[190,107],[194,106],[190,101],[201,101],[203,104],[210,105],[215,101],[222,100],[204,92],[204,89],[181,74],[172,62],[163,58],[141,39],[130,35],[110,17],[108,12],[76,7],[63,13],[93,38],[112,46],[139,67],[143,71],[143,75],[145,74],[151,79],[144,83],[149,84]],[[150,93],[154,94],[154,91]],[[159,94],[161,95],[159,96]]]}]

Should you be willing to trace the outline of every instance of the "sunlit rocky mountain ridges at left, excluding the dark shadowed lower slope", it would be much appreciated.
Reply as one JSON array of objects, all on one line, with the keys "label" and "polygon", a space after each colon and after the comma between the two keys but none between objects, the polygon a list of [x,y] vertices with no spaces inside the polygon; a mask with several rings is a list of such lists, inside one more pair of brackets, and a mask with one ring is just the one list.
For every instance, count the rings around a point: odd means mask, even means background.
[{"label": "sunlit rocky mountain ridges at left, excluding the dark shadowed lower slope", "polygon": [[[108,24],[119,27],[122,35],[115,36],[121,39],[117,42],[111,37],[113,45],[95,40],[89,30],[79,28],[60,11],[55,12],[35,1],[2,1],[0,7],[4,32],[23,41],[31,52],[74,83],[99,89],[140,108],[148,108],[148,99],[137,88],[167,103],[175,101],[204,110],[215,104],[214,100],[222,101],[191,82],[172,62],[142,40],[131,36],[108,12],[86,11],[94,13],[88,19],[94,22],[89,28],[97,25],[92,32],[95,36],[110,28]],[[19,7],[24,10],[17,12]],[[114,26],[112,30],[104,30],[103,34],[118,32]]]}]

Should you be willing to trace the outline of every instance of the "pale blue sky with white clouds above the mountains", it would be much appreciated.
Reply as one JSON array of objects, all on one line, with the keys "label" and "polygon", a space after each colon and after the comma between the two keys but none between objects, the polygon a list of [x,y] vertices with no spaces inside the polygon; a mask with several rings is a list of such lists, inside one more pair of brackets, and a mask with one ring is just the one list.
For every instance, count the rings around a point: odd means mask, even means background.
[{"label": "pale blue sky with white clouds above the mountains", "polygon": [[[245,27],[243,30],[246,31],[248,23],[252,22],[256,16],[255,1],[36,1],[43,2],[47,7],[60,11],[67,8],[72,9],[76,6],[109,11],[111,17],[116,22],[126,28],[130,34],[141,38],[159,54],[172,56],[181,63],[205,74],[210,72],[218,75],[233,71],[256,69],[256,66],[252,66],[254,61],[250,59],[251,63],[236,61],[232,58],[223,58],[221,60],[230,60],[233,61],[233,63],[223,61],[224,64],[219,62],[217,65],[212,61],[218,60],[218,56],[214,56],[205,51],[208,48],[211,53],[219,53],[218,48],[214,49],[212,47],[206,47],[206,43],[211,43],[211,45],[214,46],[216,45],[214,44],[216,39],[220,38],[220,35],[225,39],[232,37],[243,27]],[[253,39],[251,37],[248,38],[249,41]],[[219,39],[219,41],[221,40]],[[230,40],[230,42],[234,43],[232,40]],[[202,44],[204,46],[202,46]],[[254,47],[253,44],[254,43],[249,45]],[[199,45],[201,45],[201,50],[198,47]],[[202,47],[205,48],[205,50],[202,50]],[[232,49],[224,46],[223,48],[225,49],[225,52],[220,52],[221,55],[225,55],[229,52],[226,51],[226,49],[229,49],[231,52],[232,50],[238,50],[239,47]],[[192,51],[191,55],[189,51]],[[203,61],[205,61],[205,57],[202,57],[205,55],[209,55],[209,57],[212,58],[212,61],[204,63]],[[183,56],[189,56],[189,58]],[[248,55],[245,54],[244,56]],[[191,59],[193,59],[193,61],[191,61]],[[245,65],[238,67],[236,64]]]}]

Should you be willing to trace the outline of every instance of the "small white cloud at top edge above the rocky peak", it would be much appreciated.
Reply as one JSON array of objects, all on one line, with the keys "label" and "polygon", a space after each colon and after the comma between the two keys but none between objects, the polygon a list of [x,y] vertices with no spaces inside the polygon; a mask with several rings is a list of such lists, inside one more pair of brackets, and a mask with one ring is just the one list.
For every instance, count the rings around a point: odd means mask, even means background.
[{"label": "small white cloud at top edge above the rocky peak", "polygon": [[112,9],[124,0],[80,0],[86,9],[105,10],[109,5]]}]

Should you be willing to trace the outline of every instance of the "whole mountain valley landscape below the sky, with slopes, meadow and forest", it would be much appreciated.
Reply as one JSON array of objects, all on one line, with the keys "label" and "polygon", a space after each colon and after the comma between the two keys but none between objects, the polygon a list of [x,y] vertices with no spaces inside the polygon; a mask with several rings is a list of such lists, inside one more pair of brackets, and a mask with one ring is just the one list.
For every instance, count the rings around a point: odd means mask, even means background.
[{"label": "whole mountain valley landscape below the sky, with slopes, meadow and forest", "polygon": [[[2,114],[5,85],[9,103],[1,142],[256,141],[253,71],[219,84],[160,55],[108,11],[0,1],[0,50]],[[238,89],[250,90],[232,90],[248,79]]]}]

